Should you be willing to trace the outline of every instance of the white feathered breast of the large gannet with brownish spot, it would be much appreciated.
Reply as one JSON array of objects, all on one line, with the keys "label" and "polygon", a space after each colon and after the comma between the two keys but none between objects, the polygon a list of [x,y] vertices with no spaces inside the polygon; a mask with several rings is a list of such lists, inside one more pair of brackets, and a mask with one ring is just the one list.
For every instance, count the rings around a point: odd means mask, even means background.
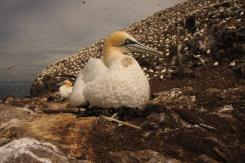
[{"label": "white feathered breast of the large gannet with brownish spot", "polygon": [[138,62],[125,55],[114,60],[104,75],[88,82],[83,92],[92,106],[139,107],[149,100],[150,87]]}]

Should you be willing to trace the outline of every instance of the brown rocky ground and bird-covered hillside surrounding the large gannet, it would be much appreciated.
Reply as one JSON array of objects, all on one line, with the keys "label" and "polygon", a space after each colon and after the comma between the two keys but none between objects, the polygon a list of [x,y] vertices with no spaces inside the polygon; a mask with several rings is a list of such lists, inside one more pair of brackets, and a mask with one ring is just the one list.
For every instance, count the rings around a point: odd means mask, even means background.
[{"label": "brown rocky ground and bird-covered hillside surrounding the large gannet", "polygon": [[[125,29],[164,52],[133,54],[151,85],[141,109],[68,108],[56,97],[103,40],[49,65],[32,87],[39,97],[1,102],[0,162],[245,162],[244,9],[190,0]],[[115,113],[140,129],[103,117]]]}]

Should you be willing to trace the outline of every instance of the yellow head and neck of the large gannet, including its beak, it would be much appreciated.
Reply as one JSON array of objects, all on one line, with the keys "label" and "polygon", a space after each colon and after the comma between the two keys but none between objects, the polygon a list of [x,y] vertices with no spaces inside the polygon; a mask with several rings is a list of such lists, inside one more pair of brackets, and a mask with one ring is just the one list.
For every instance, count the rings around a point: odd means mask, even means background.
[{"label": "yellow head and neck of the large gannet, including its beak", "polygon": [[144,46],[124,31],[113,32],[104,44],[104,63],[109,66],[114,58],[129,52],[144,52],[149,54],[162,54],[161,52]]}]

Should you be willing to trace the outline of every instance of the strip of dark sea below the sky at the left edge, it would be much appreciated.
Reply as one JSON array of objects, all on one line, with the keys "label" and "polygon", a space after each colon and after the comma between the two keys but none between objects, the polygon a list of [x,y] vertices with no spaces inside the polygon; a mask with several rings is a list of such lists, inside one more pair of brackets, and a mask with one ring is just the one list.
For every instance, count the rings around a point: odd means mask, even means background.
[{"label": "strip of dark sea below the sky at the left edge", "polygon": [[0,100],[8,95],[29,96],[31,85],[32,81],[0,81]]}]

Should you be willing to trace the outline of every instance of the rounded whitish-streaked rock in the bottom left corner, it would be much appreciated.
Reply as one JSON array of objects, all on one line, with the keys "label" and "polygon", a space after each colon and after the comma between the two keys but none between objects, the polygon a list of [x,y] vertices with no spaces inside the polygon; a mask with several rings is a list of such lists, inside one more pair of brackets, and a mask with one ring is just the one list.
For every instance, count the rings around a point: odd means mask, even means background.
[{"label": "rounded whitish-streaked rock in the bottom left corner", "polygon": [[69,162],[69,158],[53,144],[33,138],[13,140],[0,147],[2,163],[13,162]]}]

